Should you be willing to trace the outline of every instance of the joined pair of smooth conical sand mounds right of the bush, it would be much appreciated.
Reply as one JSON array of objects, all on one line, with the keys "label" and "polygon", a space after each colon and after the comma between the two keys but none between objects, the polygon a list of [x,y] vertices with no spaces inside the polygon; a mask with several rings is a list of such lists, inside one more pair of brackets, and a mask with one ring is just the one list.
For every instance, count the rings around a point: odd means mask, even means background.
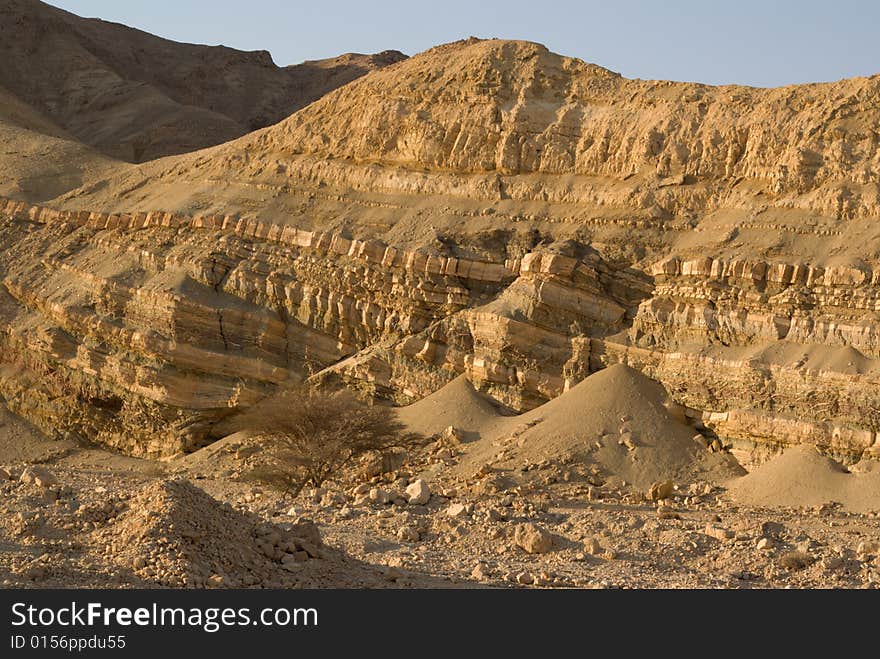
[{"label": "joined pair of smooth conical sand mounds right of the bush", "polygon": [[721,482],[744,473],[730,456],[694,441],[694,429],[659,383],[623,364],[519,416],[502,416],[462,377],[399,415],[429,436],[450,425],[459,430],[462,473],[573,459],[638,488],[661,479]]}]

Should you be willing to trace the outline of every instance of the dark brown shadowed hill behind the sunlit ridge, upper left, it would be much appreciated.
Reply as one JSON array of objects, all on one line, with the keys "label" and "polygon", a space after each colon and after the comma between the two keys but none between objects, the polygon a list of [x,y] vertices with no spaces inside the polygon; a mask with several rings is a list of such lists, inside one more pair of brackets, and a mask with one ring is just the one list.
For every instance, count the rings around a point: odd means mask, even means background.
[{"label": "dark brown shadowed hill behind the sunlit ridge, upper left", "polygon": [[37,0],[0,2],[0,85],[78,140],[131,162],[268,126],[403,57],[279,67],[265,51],[180,44]]}]

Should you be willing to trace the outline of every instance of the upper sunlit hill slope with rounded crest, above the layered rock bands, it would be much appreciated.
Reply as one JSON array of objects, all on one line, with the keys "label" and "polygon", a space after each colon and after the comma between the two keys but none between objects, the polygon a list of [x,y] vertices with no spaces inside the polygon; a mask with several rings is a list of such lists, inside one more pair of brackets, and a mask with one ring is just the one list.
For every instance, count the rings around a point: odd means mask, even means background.
[{"label": "upper sunlit hill slope with rounded crest, above the layered rock bands", "polygon": [[779,89],[628,80],[539,44],[470,39],[61,203],[259,209],[414,246],[527,220],[629,260],[711,247],[830,263],[846,247],[854,263],[878,239],[878,97],[877,76]]}]

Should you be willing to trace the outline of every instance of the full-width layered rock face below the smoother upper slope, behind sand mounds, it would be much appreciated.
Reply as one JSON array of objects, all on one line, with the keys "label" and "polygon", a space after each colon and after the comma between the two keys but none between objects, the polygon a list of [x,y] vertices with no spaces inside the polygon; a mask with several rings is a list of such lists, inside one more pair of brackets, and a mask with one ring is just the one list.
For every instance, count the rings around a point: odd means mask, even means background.
[{"label": "full-width layered rock face below the smoother upper slope, behind sand mounds", "polygon": [[466,373],[525,410],[624,362],[745,464],[802,442],[877,453],[866,270],[640,271],[572,244],[491,263],[228,217],[0,215],[0,392],[51,432],[169,455],[312,373],[399,402]]}]

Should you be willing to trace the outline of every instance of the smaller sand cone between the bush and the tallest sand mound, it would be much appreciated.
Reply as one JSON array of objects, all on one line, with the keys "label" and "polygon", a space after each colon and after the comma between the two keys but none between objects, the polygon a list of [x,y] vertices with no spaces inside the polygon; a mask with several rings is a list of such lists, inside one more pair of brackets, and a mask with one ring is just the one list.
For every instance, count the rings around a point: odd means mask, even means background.
[{"label": "smaller sand cone between the bush and the tallest sand mound", "polygon": [[410,430],[426,437],[455,426],[465,439],[492,433],[507,418],[464,375],[417,403],[400,408],[397,415]]}]

